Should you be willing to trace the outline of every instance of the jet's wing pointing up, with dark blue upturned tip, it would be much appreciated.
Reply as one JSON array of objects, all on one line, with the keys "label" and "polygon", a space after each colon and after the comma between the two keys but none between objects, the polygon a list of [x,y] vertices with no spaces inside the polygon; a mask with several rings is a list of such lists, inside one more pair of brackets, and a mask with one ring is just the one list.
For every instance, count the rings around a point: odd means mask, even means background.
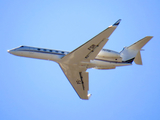
[{"label": "jet's wing pointing up, with dark blue upturned tip", "polygon": [[119,25],[120,21],[121,19],[93,37],[91,40],[87,41],[77,49],[64,56],[62,58],[62,62],[66,64],[78,64],[81,61],[89,62],[90,60],[94,60],[97,54],[108,41],[109,36]]}]

